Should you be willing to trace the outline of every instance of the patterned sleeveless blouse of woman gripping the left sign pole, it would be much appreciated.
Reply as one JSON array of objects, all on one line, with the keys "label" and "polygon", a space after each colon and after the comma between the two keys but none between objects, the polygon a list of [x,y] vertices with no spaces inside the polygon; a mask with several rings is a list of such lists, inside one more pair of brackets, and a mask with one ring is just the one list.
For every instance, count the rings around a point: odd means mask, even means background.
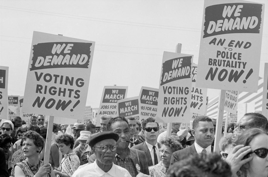
[{"label": "patterned sleeveless blouse of woman gripping the left sign pole", "polygon": [[[21,170],[23,171],[25,177],[33,177],[35,175],[35,173],[38,172],[39,168],[40,168],[40,164],[42,164],[42,160],[39,160],[39,163],[37,165],[30,165],[26,160],[22,161],[22,162],[19,162],[17,163],[16,165],[18,165]],[[15,165],[15,166],[16,166]],[[50,165],[50,168],[49,168],[49,177],[51,175],[51,165]]]}]

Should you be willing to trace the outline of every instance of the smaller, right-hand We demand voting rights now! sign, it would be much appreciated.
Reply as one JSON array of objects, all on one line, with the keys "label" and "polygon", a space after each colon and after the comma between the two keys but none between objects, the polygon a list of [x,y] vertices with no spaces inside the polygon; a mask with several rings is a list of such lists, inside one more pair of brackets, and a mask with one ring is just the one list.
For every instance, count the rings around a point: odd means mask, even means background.
[{"label": "smaller, right-hand We demand voting rights now! sign", "polygon": [[164,51],[156,121],[189,122],[192,59],[193,55]]}]

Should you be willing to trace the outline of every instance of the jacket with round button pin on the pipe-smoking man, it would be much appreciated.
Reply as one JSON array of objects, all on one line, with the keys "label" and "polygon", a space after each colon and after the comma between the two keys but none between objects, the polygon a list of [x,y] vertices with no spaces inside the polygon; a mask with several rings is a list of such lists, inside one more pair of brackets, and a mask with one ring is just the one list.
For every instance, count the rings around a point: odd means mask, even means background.
[{"label": "jacket with round button pin on the pipe-smoking man", "polygon": [[[148,164],[147,164],[147,159],[146,159],[145,153],[142,151],[136,150],[136,149],[129,149],[129,150],[130,150],[131,160],[133,162],[133,165],[135,167],[136,172],[137,173],[141,172],[141,173],[144,173],[146,175],[149,175],[149,169],[148,169]],[[138,153],[139,157],[137,157],[137,153]],[[88,164],[93,163],[95,160],[96,160],[96,156],[95,156],[95,154],[92,154],[89,157]],[[113,159],[113,163],[115,165],[117,165],[116,158]],[[140,168],[141,168],[140,170],[137,170],[136,164],[138,164],[140,166]]]}]

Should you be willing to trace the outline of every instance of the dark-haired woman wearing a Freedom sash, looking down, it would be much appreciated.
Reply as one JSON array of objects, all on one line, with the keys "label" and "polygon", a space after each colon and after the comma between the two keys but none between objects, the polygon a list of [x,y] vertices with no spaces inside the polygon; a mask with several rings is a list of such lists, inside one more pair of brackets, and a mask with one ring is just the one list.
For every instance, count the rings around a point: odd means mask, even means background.
[{"label": "dark-haired woman wearing a Freedom sash, looking down", "polygon": [[73,152],[74,138],[63,134],[57,138],[56,142],[64,158],[61,160],[60,167],[55,168],[54,173],[62,177],[71,177],[80,165],[78,156]]}]

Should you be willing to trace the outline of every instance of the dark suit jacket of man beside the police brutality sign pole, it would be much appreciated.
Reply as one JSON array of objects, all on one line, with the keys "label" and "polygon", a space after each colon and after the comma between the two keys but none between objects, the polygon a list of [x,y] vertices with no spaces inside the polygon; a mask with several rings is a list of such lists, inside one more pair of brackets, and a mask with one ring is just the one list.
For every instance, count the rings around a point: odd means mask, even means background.
[{"label": "dark suit jacket of man beside the police brutality sign pole", "polygon": [[[211,152],[213,152],[213,146],[211,146]],[[171,159],[170,159],[170,165],[169,167],[171,167],[175,162],[178,162],[180,160],[186,159],[189,156],[193,155],[193,154],[197,154],[197,151],[195,149],[194,144],[192,144],[191,146],[181,149],[179,151],[175,151],[173,152]]]}]

